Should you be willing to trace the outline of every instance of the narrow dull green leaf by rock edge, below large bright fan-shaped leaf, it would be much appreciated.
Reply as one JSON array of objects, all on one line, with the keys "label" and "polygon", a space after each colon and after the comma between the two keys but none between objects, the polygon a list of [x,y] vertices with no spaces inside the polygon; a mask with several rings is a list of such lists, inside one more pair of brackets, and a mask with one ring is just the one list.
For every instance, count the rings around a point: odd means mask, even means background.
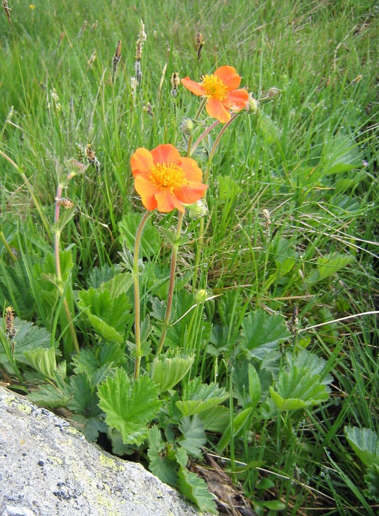
[{"label": "narrow dull green leaf by rock edge, below large bright fan-shaped leaf", "polygon": [[165,449],[165,443],[162,441],[160,429],[154,425],[149,430],[149,449],[147,455],[149,457],[149,469],[151,473],[156,475],[162,482],[168,483],[169,486],[176,487],[178,482],[178,463],[169,459],[162,453]]}]

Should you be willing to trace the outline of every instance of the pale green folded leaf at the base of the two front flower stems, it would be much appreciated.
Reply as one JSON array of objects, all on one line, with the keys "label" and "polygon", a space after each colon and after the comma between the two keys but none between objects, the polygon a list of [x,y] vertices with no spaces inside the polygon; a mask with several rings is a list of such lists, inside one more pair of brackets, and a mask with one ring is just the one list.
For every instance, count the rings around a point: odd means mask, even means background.
[{"label": "pale green folded leaf at the base of the two front flower stems", "polygon": [[160,356],[155,358],[151,366],[151,377],[159,385],[161,392],[172,389],[190,370],[194,357]]}]

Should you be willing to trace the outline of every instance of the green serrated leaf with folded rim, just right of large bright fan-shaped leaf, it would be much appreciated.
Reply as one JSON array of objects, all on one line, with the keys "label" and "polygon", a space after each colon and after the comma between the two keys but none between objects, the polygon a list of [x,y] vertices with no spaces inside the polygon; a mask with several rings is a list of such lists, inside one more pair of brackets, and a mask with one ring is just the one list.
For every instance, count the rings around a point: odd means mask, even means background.
[{"label": "green serrated leaf with folded rim, just right of large bright fan-shaped leaf", "polygon": [[199,414],[222,403],[228,398],[225,389],[220,389],[215,383],[206,385],[201,378],[194,378],[184,387],[182,401],[176,406],[184,416]]}]

